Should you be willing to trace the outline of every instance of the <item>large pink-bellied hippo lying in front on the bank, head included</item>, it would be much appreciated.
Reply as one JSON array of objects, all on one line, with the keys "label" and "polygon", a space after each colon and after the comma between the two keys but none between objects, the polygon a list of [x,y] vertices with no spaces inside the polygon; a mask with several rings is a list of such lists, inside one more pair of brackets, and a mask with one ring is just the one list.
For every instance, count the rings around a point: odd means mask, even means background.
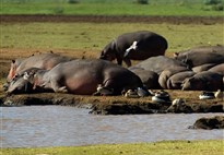
[{"label": "large pink-bellied hippo lying in front on the bank, head included", "polygon": [[[113,90],[111,95],[120,95],[123,90],[143,87],[138,75],[118,64],[101,59],[75,59],[61,62],[51,70],[25,72],[10,83],[8,94],[26,93],[38,88],[46,92],[92,95],[98,84]],[[32,85],[33,88],[27,85]]]}]

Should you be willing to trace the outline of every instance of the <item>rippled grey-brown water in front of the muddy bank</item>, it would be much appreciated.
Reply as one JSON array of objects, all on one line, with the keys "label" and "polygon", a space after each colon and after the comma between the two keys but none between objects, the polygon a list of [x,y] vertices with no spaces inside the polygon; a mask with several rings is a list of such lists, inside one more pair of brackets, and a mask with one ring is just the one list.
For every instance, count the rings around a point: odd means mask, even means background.
[{"label": "rippled grey-brown water in front of the muddy bank", "polygon": [[1,107],[1,147],[75,146],[163,140],[222,140],[224,130],[192,130],[201,117],[223,114],[89,115],[63,106]]}]

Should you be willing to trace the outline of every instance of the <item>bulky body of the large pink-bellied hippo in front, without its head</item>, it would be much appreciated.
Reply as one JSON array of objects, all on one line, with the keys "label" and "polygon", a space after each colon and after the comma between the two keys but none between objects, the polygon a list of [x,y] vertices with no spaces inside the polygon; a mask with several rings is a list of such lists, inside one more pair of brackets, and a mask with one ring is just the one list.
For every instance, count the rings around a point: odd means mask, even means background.
[{"label": "bulky body of the large pink-bellied hippo in front, without its head", "polygon": [[114,90],[115,95],[123,88],[142,87],[138,75],[113,62],[101,59],[76,59],[63,62],[48,72],[48,76],[60,81],[73,94],[91,95],[98,84]]}]

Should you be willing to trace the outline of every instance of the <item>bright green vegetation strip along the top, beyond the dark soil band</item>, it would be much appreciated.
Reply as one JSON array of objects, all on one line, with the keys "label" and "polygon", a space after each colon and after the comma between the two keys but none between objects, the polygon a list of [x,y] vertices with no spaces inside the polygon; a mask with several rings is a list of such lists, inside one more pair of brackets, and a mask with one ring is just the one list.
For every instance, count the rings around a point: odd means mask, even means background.
[{"label": "bright green vegetation strip along the top, beyond the dark soil band", "polygon": [[[1,0],[0,14],[222,16],[223,2],[204,0]],[[140,0],[144,1],[145,0]],[[211,4],[210,4],[211,3]]]}]

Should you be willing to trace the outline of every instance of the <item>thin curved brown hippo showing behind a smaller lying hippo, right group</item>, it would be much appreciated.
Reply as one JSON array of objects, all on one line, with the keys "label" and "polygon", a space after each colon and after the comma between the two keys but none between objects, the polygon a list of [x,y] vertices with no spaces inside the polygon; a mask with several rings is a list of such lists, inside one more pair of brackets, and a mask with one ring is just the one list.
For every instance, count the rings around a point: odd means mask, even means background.
[{"label": "thin curved brown hippo showing behind a smaller lying hippo, right group", "polygon": [[165,69],[164,71],[161,72],[160,76],[158,76],[158,83],[161,85],[161,87],[163,88],[168,88],[167,87],[167,81],[168,79],[178,73],[178,72],[184,72],[184,71],[189,71],[186,67],[173,67],[173,68],[169,68],[169,69]]}]

